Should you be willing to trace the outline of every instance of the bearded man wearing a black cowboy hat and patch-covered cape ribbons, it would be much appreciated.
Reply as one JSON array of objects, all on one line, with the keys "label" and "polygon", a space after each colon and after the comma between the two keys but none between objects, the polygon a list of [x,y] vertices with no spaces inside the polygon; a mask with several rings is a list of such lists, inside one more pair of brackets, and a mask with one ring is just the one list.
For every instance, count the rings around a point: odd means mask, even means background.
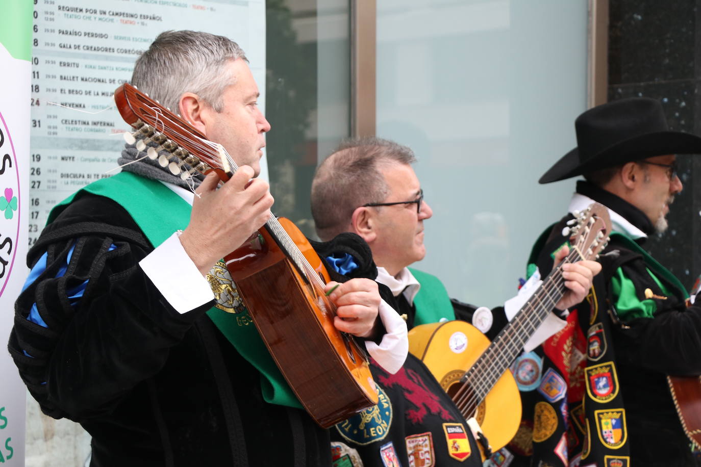
[{"label": "bearded man wearing a black cowboy hat and patch-covered cape ribbons", "polygon": [[[701,153],[701,138],[669,131],[661,104],[643,97],[594,107],[575,128],[577,148],[540,183],[583,176],[569,212],[604,204],[613,233],[590,295],[537,351],[543,379],[522,391],[528,428],[512,449],[531,465],[701,465],[667,383],[701,375],[701,307],[643,248],[681,191],[676,154]],[[550,269],[572,218],[543,232],[529,263]]]}]

